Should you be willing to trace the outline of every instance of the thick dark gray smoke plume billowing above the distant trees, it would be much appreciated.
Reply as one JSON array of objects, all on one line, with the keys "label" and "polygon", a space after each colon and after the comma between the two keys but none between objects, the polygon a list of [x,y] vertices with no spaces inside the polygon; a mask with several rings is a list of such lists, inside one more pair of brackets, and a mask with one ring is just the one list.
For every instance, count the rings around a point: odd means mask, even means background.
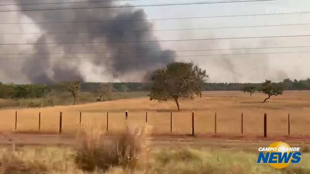
[{"label": "thick dark gray smoke plume billowing above the distant trees", "polygon": [[[32,1],[31,1],[32,2]],[[33,1],[33,3],[40,0]],[[16,3],[20,3],[16,0]],[[57,4],[50,6],[21,5],[20,9],[33,8],[65,8],[78,6],[113,6],[112,2],[84,4]],[[152,30],[152,23],[148,21],[130,21],[133,19],[146,19],[142,9],[130,8],[106,8],[106,9],[79,9],[79,10],[55,10],[55,11],[22,11],[22,14],[30,17],[34,22],[59,22],[59,21],[111,21],[96,23],[61,23],[61,24],[37,24],[42,32],[93,32],[80,34],[44,34],[36,43],[63,43],[63,42],[122,42],[122,41],[148,41],[156,40],[152,32],[128,32],[130,30]],[[123,21],[115,21],[123,20]],[[129,21],[128,21],[129,20]],[[154,52],[155,51],[155,52]],[[89,74],[82,73],[85,61],[93,66],[104,69],[102,74],[119,78],[124,75],[139,74],[157,69],[174,61],[174,51],[162,51],[159,42],[149,43],[79,43],[79,44],[38,44],[34,45],[35,53],[94,53],[102,54],[61,54],[61,55],[36,55],[27,60],[22,67],[32,83],[50,83],[55,81],[84,79]],[[137,53],[138,52],[138,53]],[[144,53],[143,53],[144,52]],[[151,52],[151,53],[145,53]],[[52,58],[77,58],[80,59],[52,59]],[[96,59],[83,58],[96,57]],[[93,72],[95,73],[95,72]],[[137,79],[139,79],[138,77]]]}]

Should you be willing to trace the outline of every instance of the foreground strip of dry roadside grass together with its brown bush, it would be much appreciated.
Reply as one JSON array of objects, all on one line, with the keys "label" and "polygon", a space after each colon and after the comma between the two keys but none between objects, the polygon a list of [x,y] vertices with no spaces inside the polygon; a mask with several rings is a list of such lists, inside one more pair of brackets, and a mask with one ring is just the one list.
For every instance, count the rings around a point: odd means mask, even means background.
[{"label": "foreground strip of dry roadside grass together with its brown bush", "polygon": [[151,127],[106,133],[86,127],[72,147],[2,146],[1,174],[309,174],[309,148],[302,162],[285,169],[257,164],[256,147],[153,146]]}]

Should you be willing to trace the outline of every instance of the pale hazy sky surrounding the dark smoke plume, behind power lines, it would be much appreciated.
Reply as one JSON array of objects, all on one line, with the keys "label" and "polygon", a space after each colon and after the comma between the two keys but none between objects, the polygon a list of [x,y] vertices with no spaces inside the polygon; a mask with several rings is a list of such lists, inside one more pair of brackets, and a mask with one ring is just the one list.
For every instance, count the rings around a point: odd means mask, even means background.
[{"label": "pale hazy sky surrounding the dark smoke plume, behind power lines", "polygon": [[[56,0],[47,0],[55,2]],[[74,0],[58,0],[74,1]],[[82,0],[78,0],[82,1]],[[197,0],[202,1],[202,0]],[[206,0],[205,0],[206,1]],[[208,0],[210,1],[210,0]],[[16,3],[17,0],[1,0],[0,4]],[[19,2],[26,3],[26,0]],[[27,3],[37,2],[27,0]],[[42,1],[40,1],[42,2]],[[46,1],[44,1],[46,2]],[[159,4],[175,2],[195,2],[195,0],[137,0],[127,1],[132,5]],[[125,2],[124,2],[125,3]],[[122,2],[122,4],[124,4]],[[85,6],[85,4],[84,4]],[[33,7],[33,6],[32,6]],[[40,6],[42,7],[42,6]],[[36,8],[40,8],[36,7]],[[16,7],[11,6],[11,9]],[[0,6],[0,9],[10,9]],[[239,14],[274,14],[310,12],[309,0],[274,0],[257,2],[215,3],[182,6],[144,7],[148,19],[175,18],[175,17],[201,17],[218,15]],[[122,9],[120,9],[122,10]],[[32,20],[19,12],[0,12],[1,23],[31,22]],[[66,18],[66,16],[64,16]],[[279,25],[279,24],[310,24],[310,13],[307,14],[281,14],[264,16],[240,16],[182,20],[156,20],[151,21],[155,30],[160,29],[190,29],[190,28],[215,28],[235,26]],[[36,25],[24,25],[22,27],[1,26],[0,32],[40,32]],[[158,40],[175,39],[205,39],[227,37],[259,37],[259,36],[286,36],[286,35],[310,35],[310,25],[277,26],[256,28],[230,28],[230,29],[201,29],[186,31],[155,31]],[[1,43],[34,43],[39,36],[36,35],[0,35]],[[171,50],[199,50],[199,49],[229,49],[250,47],[288,47],[310,46],[310,37],[290,38],[264,38],[264,39],[231,39],[212,41],[186,41],[186,42],[162,42],[163,49]],[[16,53],[31,52],[31,46],[20,47],[14,45]],[[281,81],[284,78],[305,79],[310,77],[310,53],[282,53],[282,54],[256,54],[256,55],[222,55],[186,57],[187,55],[210,54],[243,54],[243,53],[274,53],[274,52],[305,52],[310,47],[302,48],[273,48],[273,49],[247,49],[247,50],[217,50],[177,52],[176,60],[193,61],[209,74],[209,82],[262,82],[265,79]],[[13,53],[12,46],[0,46],[1,53]],[[1,55],[0,58],[6,58]],[[13,57],[12,57],[13,58]],[[31,80],[21,71],[24,60],[0,60],[0,81],[4,83],[31,83]],[[139,81],[143,76],[141,72],[134,72],[128,78],[114,78],[109,73],[104,73],[101,67],[83,61],[77,65],[72,62],[72,67],[77,68],[86,81]],[[40,69],[41,67],[37,67]],[[36,71],[36,69],[33,69]],[[48,71],[48,70],[46,70]],[[137,77],[137,78],[136,78]]]}]

